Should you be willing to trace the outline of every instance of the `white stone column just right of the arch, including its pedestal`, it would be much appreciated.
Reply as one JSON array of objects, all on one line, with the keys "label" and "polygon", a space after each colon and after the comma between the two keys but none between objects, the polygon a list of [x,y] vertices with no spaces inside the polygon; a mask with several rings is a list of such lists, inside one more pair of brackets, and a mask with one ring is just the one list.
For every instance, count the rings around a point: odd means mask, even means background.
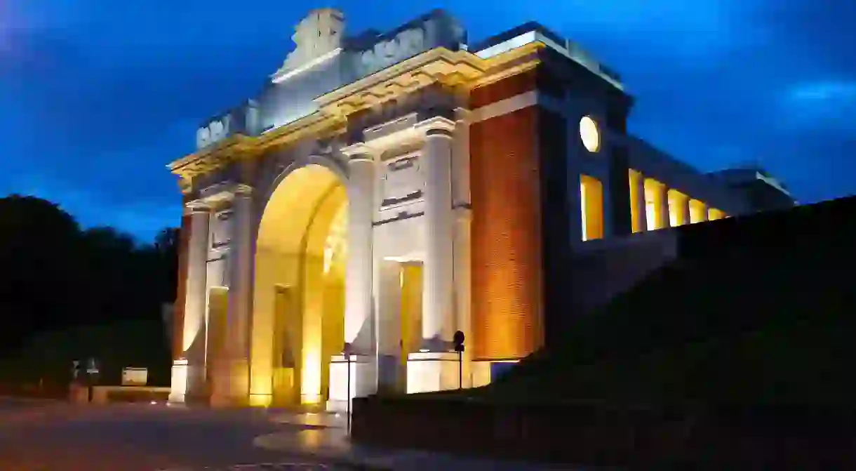
[{"label": "white stone column just right of the arch, including its pedestal", "polygon": [[[345,342],[353,349],[350,394],[377,391],[377,334],[372,316],[372,222],[376,209],[374,151],[364,143],[342,149],[348,157],[348,261],[345,268]],[[330,363],[328,410],[348,406],[348,361]]]}]

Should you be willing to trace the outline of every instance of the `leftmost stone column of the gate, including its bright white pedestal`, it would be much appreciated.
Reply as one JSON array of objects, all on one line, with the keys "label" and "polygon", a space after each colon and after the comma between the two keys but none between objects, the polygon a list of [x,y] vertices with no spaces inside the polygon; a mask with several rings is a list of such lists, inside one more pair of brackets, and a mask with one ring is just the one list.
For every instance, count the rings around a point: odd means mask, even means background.
[{"label": "leftmost stone column of the gate, including its bright white pedestal", "polygon": [[187,296],[181,332],[184,353],[173,365],[170,402],[184,402],[187,396],[205,395],[205,273],[211,212],[199,202],[188,204],[187,211],[190,212],[190,240],[187,243]]}]

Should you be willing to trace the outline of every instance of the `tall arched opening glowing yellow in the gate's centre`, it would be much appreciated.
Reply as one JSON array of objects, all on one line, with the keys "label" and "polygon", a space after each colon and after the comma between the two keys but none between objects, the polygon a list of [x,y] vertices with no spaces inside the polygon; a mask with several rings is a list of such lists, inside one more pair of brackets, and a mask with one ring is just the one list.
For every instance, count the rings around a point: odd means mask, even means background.
[{"label": "tall arched opening glowing yellow in the gate's centre", "polygon": [[344,343],[348,197],[319,164],[278,184],[259,222],[250,402],[329,397],[330,357]]}]

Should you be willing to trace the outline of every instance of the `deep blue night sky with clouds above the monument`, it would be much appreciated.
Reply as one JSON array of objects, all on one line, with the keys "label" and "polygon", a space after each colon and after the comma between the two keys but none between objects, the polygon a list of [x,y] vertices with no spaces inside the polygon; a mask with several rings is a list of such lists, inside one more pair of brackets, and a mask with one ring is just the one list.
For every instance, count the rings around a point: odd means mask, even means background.
[{"label": "deep blue night sky with clouds above the monument", "polygon": [[177,225],[164,165],[253,96],[324,6],[348,33],[447,9],[471,44],[541,22],[622,75],[633,134],[701,170],[758,162],[803,202],[856,193],[853,2],[0,0],[0,194],[143,240]]}]

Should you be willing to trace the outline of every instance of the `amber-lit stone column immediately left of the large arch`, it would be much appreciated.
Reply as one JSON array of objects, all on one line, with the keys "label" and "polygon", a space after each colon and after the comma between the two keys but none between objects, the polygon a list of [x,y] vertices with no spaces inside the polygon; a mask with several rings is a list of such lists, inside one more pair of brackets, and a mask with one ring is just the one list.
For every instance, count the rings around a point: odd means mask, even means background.
[{"label": "amber-lit stone column immediately left of the large arch", "polygon": [[212,405],[245,405],[249,397],[249,336],[253,304],[252,188],[238,185],[232,196],[226,283],[229,305],[225,345]]}]

